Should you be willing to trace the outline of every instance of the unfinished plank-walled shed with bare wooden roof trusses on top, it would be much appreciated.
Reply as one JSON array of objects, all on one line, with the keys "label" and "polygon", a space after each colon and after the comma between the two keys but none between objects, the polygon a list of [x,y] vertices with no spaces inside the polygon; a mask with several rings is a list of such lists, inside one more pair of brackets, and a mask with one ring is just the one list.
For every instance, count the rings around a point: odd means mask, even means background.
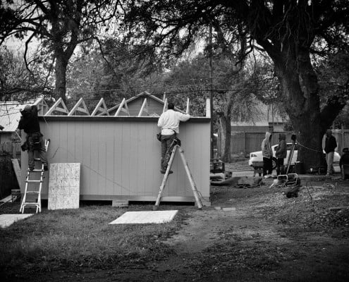
[{"label": "unfinished plank-walled shed with bare wooden roof trusses on top", "polygon": [[[49,164],[81,164],[80,200],[155,201],[164,177],[159,171],[157,121],[165,107],[166,99],[154,99],[147,92],[123,99],[111,109],[101,99],[92,114],[83,99],[70,111],[59,99],[39,117],[44,138],[51,140]],[[209,132],[208,110],[207,116],[181,123],[178,135],[203,204],[209,204]],[[26,152],[22,155],[22,168],[24,182]],[[173,171],[162,201],[195,202],[179,155]],[[49,177],[44,179],[42,199],[48,198],[48,180]]]}]

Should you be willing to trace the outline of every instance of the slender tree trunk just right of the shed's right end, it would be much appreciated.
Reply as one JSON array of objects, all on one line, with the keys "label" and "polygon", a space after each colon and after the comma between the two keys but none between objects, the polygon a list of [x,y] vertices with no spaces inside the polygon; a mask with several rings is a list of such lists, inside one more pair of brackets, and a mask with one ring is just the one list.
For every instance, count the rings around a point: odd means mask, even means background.
[{"label": "slender tree trunk just right of the shed's right end", "polygon": [[231,116],[220,115],[221,161],[231,162]]}]

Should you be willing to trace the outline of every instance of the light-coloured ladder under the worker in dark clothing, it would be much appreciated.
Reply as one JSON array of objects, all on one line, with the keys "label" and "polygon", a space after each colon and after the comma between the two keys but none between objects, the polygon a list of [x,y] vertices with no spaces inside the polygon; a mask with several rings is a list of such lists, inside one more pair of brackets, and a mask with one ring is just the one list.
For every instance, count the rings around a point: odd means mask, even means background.
[{"label": "light-coloured ladder under the worker in dark clothing", "polygon": [[[50,140],[45,140],[45,150],[47,152],[47,148],[49,147]],[[41,190],[42,190],[42,182],[44,179],[44,164],[42,164],[41,159],[34,159],[35,163],[41,163],[41,168],[35,168],[30,171],[29,168],[27,170],[27,178],[25,178],[25,190],[23,195],[22,204],[20,205],[20,212],[24,212],[25,207],[36,207],[36,213],[41,212]],[[39,179],[31,179],[30,176],[37,173],[39,174]],[[37,177],[36,177],[37,178]]]}]

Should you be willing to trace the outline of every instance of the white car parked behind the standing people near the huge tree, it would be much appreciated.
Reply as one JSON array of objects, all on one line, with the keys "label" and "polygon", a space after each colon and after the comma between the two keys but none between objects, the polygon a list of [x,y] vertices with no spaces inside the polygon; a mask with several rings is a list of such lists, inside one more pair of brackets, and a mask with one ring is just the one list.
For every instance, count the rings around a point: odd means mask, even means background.
[{"label": "white car parked behind the standing people near the huge tree", "polygon": [[[284,161],[284,164],[286,165],[287,161],[288,161],[288,156],[290,154],[290,150],[292,149],[292,143],[287,143],[287,156],[286,159]],[[274,152],[274,157],[273,157],[273,169],[276,168],[276,157],[275,157],[275,151],[276,151],[276,147],[278,147],[278,145],[273,145],[271,146],[271,149]],[[324,152],[325,154],[325,152]],[[290,165],[294,166],[295,165],[295,161],[297,161],[297,155],[298,155],[298,145],[295,145],[295,151],[293,152],[293,157],[291,160]],[[339,159],[341,159],[341,156],[337,153],[334,152],[334,157],[333,157],[333,164],[339,163]],[[248,160],[248,165],[249,166],[261,166],[261,164],[263,164],[263,156],[262,156],[262,151],[258,151],[258,152],[252,152],[250,153],[250,159]]]}]

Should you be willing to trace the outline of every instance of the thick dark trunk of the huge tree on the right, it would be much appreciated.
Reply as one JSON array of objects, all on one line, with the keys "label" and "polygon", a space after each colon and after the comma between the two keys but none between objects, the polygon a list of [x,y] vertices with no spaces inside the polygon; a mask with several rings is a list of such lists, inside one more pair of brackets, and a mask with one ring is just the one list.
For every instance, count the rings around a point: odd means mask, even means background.
[{"label": "thick dark trunk of the huge tree on the right", "polygon": [[[309,52],[298,53],[297,59],[276,61],[276,75],[281,81],[285,109],[298,142],[298,161],[305,170],[324,166],[319,85],[310,63]],[[275,61],[274,61],[275,62]],[[325,161],[326,164],[326,161]]]}]

